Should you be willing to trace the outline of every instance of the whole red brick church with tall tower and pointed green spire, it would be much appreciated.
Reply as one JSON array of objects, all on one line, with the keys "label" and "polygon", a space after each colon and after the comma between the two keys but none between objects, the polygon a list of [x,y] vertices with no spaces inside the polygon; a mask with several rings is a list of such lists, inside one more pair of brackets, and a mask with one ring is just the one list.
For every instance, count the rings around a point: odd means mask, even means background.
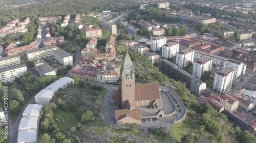
[{"label": "whole red brick church with tall tower and pointed green spire", "polygon": [[111,103],[115,108],[116,123],[138,123],[140,124],[139,106],[159,105],[159,84],[142,83],[135,84],[133,63],[129,53],[126,53],[121,73],[121,85],[111,96]]}]

